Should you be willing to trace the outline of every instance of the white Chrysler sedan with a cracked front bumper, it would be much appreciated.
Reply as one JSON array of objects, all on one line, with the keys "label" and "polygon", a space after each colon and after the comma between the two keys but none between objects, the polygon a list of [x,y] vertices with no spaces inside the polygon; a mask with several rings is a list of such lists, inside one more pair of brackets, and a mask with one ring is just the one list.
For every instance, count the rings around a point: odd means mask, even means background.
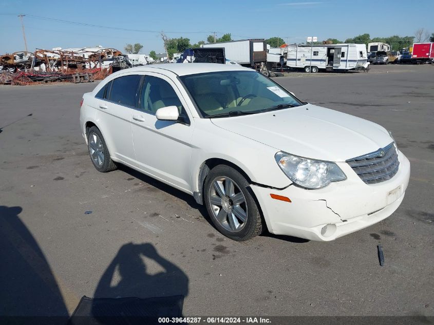
[{"label": "white Chrysler sedan with a cracked front bumper", "polygon": [[193,195],[238,241],[361,230],[398,208],[410,176],[385,128],[239,65],[116,72],[83,95],[80,126],[99,171],[124,164]]}]

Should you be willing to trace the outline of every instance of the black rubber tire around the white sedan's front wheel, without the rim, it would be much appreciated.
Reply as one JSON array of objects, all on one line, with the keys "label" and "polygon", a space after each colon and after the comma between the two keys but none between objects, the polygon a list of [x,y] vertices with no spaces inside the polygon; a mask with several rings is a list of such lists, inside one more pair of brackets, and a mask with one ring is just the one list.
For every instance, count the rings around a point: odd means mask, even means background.
[{"label": "black rubber tire around the white sedan's front wheel, without the rim", "polygon": [[[244,226],[240,231],[233,232],[227,230],[219,221],[217,221],[216,216],[213,212],[213,207],[211,205],[210,200],[210,192],[212,188],[214,188],[213,183],[218,178],[229,178],[242,192],[245,199],[245,206],[247,207],[247,218],[244,222]],[[228,166],[228,165],[217,165],[213,169],[211,169],[210,174],[205,179],[205,184],[203,188],[203,197],[206,206],[206,211],[210,216],[211,221],[217,230],[223,234],[224,236],[235,240],[235,241],[244,241],[251,239],[257,235],[262,233],[263,225],[261,214],[259,212],[258,205],[254,198],[254,194],[250,188],[249,182],[242,176],[236,169]],[[222,209],[223,207],[221,207]]]}]

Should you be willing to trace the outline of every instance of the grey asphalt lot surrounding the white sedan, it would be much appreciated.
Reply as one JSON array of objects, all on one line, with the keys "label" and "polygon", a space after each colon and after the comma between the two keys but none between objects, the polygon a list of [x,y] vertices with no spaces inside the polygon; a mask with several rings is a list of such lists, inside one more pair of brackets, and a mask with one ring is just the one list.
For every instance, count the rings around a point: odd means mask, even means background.
[{"label": "grey asphalt lot surrounding the white sedan", "polygon": [[66,315],[83,295],[182,294],[185,316],[433,316],[434,66],[276,81],[393,132],[411,162],[397,212],[334,242],[234,242],[193,197],[126,167],[93,168],[78,119],[95,83],[2,86],[0,315]]}]

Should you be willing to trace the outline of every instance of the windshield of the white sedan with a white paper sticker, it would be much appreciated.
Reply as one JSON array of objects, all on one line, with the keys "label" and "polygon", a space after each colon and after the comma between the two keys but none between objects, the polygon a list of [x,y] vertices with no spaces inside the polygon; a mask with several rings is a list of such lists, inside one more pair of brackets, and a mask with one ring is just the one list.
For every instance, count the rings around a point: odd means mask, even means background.
[{"label": "windshield of the white sedan with a white paper sticker", "polygon": [[202,117],[217,118],[304,105],[256,71],[218,71],[180,77]]}]

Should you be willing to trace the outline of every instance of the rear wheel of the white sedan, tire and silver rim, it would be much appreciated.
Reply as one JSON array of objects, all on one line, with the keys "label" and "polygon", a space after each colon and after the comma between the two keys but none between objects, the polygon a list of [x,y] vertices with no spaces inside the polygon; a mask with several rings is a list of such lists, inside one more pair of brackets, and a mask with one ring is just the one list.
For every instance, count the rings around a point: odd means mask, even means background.
[{"label": "rear wheel of the white sedan, tire and silver rim", "polygon": [[115,162],[110,158],[104,137],[96,126],[92,126],[87,132],[87,148],[89,149],[90,160],[98,171],[107,173],[107,171],[117,168]]}]

